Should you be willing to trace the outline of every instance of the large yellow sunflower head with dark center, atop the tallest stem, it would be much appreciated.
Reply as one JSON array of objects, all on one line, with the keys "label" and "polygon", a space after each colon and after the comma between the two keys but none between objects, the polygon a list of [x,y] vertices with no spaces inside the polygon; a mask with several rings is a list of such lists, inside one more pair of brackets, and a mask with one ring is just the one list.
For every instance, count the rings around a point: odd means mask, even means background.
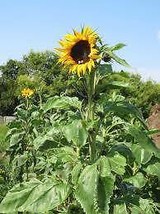
[{"label": "large yellow sunflower head with dark center, atop the tallest stem", "polygon": [[98,35],[90,27],[82,28],[81,32],[73,30],[73,34],[67,34],[59,42],[61,48],[57,48],[59,63],[69,68],[78,76],[85,74],[95,67],[95,61],[100,58],[96,49]]}]

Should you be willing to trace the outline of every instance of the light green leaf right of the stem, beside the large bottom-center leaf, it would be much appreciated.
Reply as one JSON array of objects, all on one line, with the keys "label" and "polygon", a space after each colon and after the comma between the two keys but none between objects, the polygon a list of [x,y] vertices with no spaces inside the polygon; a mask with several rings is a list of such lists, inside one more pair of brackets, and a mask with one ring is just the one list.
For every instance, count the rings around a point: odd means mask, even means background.
[{"label": "light green leaf right of the stem, beside the large bottom-center leaf", "polygon": [[126,158],[120,154],[116,154],[113,157],[109,157],[109,163],[111,170],[118,175],[123,175],[125,173]]}]

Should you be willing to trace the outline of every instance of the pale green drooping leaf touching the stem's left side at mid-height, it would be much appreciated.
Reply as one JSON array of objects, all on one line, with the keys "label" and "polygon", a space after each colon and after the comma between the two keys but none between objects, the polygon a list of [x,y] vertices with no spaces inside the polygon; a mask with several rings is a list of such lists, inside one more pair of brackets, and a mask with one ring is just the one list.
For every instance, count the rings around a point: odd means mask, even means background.
[{"label": "pale green drooping leaf touching the stem's left side at mid-height", "polygon": [[69,125],[62,128],[63,134],[68,142],[73,142],[76,146],[82,147],[88,138],[88,133],[81,120],[74,120]]}]

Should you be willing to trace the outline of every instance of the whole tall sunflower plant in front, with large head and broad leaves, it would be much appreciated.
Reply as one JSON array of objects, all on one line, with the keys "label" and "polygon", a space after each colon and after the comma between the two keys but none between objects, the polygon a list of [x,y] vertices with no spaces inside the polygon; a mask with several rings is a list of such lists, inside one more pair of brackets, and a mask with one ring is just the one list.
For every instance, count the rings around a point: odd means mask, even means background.
[{"label": "whole tall sunflower plant in front, with large head and broad leaves", "polygon": [[85,96],[55,96],[40,107],[41,123],[28,133],[34,167],[7,193],[1,213],[159,213],[160,154],[152,132],[139,109],[107,93],[127,87],[106,85],[113,62],[129,66],[115,54],[125,45],[104,45],[90,27],[59,44],[58,63],[83,83]]}]

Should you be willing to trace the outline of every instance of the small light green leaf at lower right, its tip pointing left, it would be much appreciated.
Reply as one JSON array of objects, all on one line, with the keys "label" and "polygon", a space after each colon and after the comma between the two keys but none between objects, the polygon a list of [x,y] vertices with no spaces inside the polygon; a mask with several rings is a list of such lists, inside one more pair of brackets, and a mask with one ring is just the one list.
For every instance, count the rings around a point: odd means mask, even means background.
[{"label": "small light green leaf at lower right, its tip pointing left", "polygon": [[125,178],[124,181],[133,184],[137,188],[142,188],[147,182],[143,174],[140,172],[130,178]]}]

